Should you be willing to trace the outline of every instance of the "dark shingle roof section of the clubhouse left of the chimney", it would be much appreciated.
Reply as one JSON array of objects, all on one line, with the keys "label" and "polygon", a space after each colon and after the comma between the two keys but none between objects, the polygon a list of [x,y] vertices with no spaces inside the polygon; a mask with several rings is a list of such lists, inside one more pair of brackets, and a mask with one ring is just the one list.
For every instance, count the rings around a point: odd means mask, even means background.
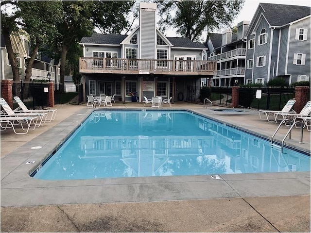
[{"label": "dark shingle roof section of the clubhouse left of the chimney", "polygon": [[120,43],[127,37],[121,34],[101,34],[93,33],[91,37],[82,37],[80,43],[90,44],[105,44],[105,45],[120,45]]}]

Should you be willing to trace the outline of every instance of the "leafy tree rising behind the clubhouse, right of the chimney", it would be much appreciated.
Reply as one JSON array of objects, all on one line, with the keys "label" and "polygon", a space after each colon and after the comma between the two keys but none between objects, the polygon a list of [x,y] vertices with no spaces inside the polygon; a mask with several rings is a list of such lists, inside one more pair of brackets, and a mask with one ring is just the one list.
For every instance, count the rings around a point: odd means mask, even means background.
[{"label": "leafy tree rising behind the clubhouse, right of the chimney", "polygon": [[229,27],[244,4],[243,0],[156,1],[161,31],[174,27],[177,33],[198,41],[203,32]]}]

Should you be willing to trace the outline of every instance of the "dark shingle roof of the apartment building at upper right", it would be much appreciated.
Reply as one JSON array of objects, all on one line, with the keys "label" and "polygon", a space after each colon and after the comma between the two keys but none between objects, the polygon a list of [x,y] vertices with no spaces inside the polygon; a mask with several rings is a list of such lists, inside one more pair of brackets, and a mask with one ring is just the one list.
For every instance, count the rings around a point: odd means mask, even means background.
[{"label": "dark shingle roof of the apartment building at upper right", "polygon": [[271,26],[282,26],[310,15],[309,6],[259,3]]}]

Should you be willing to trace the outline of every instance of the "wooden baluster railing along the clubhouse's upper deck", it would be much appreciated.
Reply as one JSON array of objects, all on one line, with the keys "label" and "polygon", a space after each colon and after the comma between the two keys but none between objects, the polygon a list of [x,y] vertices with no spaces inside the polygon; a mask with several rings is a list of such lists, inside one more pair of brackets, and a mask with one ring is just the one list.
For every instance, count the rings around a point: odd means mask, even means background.
[{"label": "wooden baluster railing along the clubhouse's upper deck", "polygon": [[199,60],[155,60],[80,57],[83,70],[209,71],[216,72],[216,62]]}]

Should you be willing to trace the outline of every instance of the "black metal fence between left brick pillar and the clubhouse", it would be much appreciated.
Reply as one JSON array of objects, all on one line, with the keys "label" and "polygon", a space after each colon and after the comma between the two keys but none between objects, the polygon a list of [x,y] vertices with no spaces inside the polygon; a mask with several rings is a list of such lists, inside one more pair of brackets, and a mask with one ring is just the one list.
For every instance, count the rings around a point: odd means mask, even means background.
[{"label": "black metal fence between left brick pillar and the clubhouse", "polygon": [[54,84],[55,104],[78,105],[83,102],[83,85],[73,83]]}]

